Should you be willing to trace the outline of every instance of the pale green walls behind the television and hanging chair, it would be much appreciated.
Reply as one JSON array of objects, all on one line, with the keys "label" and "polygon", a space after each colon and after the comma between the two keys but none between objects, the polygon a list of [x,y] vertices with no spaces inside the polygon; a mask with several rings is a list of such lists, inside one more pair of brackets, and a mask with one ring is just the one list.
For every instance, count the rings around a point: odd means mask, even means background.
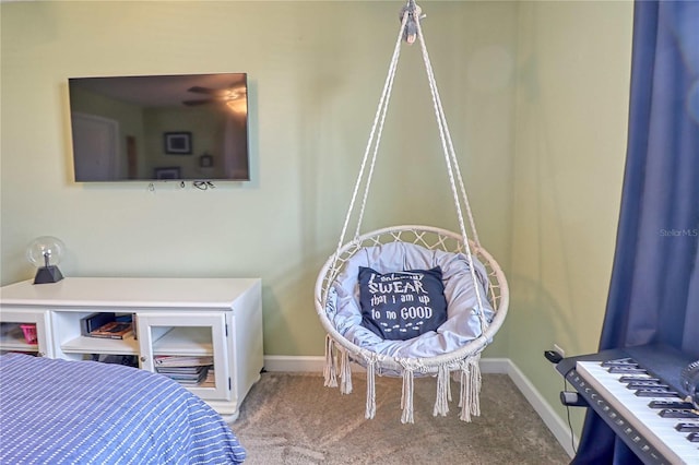
[{"label": "pale green walls behind the television and hanging chair", "polygon": [[[484,246],[511,285],[486,357],[552,405],[556,343],[593,351],[614,250],[632,3],[423,1],[427,47]],[[1,3],[0,279],[35,237],[67,276],[260,276],[266,355],[321,355],[336,246],[402,1]],[[247,72],[249,182],[72,180],[68,78]],[[427,79],[403,47],[364,230],[455,228]],[[561,412],[562,415],[562,412]]]}]

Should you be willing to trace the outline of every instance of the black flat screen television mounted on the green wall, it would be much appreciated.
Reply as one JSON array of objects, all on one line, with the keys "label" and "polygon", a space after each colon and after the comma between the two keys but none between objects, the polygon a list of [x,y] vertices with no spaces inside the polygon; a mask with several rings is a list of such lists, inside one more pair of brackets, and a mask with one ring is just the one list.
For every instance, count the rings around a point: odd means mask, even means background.
[{"label": "black flat screen television mounted on the green wall", "polygon": [[76,182],[250,179],[246,73],[70,78]]}]

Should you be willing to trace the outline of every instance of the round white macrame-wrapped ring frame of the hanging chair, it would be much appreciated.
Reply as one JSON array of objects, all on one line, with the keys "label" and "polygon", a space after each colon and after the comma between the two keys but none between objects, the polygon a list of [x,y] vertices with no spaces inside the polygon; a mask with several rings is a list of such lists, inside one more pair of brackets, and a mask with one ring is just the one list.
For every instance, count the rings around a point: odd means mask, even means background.
[{"label": "round white macrame-wrapped ring frame of the hanging chair", "polygon": [[490,302],[495,314],[488,323],[484,320],[483,309],[479,309],[482,334],[455,350],[433,357],[410,359],[413,360],[412,363],[417,367],[420,373],[437,373],[440,366],[448,367],[450,371],[459,369],[462,360],[479,355],[502,325],[509,307],[509,288],[505,273],[487,250],[471,239],[469,239],[469,248],[466,248],[462,235],[447,229],[420,225],[392,226],[360,235],[341,247],[328,259],[316,282],[316,311],[323,329],[335,344],[347,350],[350,358],[359,365],[369,361],[378,362],[380,369],[401,372],[407,359],[380,355],[357,346],[337,332],[327,313],[330,287],[343,272],[346,262],[364,248],[389,242],[408,242],[429,250],[470,254],[477,258],[486,267],[489,282],[487,296],[483,297]]}]

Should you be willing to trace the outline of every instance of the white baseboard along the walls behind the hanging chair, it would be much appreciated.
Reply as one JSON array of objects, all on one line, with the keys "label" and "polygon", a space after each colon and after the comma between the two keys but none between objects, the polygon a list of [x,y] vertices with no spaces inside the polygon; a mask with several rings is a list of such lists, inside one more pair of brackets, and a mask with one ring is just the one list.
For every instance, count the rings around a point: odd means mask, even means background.
[{"label": "white baseboard along the walls behind the hanging chair", "polygon": [[[322,373],[325,358],[320,356],[264,356],[264,369],[271,372]],[[353,371],[364,371],[364,369],[356,363],[352,363],[352,369]],[[509,375],[568,455],[570,457],[574,455],[572,441],[574,441],[577,446],[578,438],[572,434],[568,425],[556,414],[524,373],[512,363],[512,360],[509,358],[482,358],[481,372]]]}]

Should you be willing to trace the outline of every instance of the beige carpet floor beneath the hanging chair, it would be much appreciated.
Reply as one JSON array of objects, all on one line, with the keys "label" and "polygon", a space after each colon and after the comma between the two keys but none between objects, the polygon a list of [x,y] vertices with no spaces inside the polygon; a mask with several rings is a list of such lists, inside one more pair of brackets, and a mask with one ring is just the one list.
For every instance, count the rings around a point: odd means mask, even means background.
[{"label": "beige carpet floor beneath the hanging chair", "polygon": [[570,458],[505,374],[485,374],[481,416],[433,417],[435,380],[415,380],[415,424],[401,424],[401,380],[377,378],[377,415],[364,418],[366,378],[341,395],[316,374],[263,373],[232,425],[246,464],[568,464]]}]

